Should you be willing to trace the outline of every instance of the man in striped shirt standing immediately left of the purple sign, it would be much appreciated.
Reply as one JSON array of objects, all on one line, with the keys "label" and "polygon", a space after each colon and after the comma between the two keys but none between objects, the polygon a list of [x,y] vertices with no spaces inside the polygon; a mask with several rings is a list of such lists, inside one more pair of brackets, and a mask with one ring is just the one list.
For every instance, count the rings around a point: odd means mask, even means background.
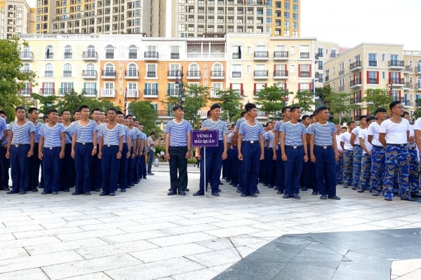
[{"label": "man in striped shirt standing immediately left of the purple sign", "polygon": [[170,191],[168,195],[186,195],[187,159],[192,149],[192,125],[184,120],[184,109],[180,105],[173,108],[174,119],[165,128],[165,157],[170,165]]}]

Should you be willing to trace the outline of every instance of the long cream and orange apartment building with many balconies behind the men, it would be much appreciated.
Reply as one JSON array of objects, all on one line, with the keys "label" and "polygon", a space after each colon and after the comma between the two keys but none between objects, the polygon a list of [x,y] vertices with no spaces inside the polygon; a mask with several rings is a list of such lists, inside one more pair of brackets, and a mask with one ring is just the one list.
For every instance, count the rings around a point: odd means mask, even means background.
[{"label": "long cream and orange apartment building with many balconies behind the men", "polygon": [[[238,90],[241,104],[257,102],[267,85],[290,92],[314,87],[315,38],[227,34],[220,38],[151,38],[128,34],[25,34],[22,71],[35,71],[37,85],[21,94],[63,95],[74,90],[123,108],[148,100],[168,117],[168,96],[180,83]],[[176,83],[178,82],[178,83]],[[293,94],[289,97],[293,102]],[[206,108],[199,112],[206,116]],[[263,115],[262,115],[263,116]]]}]

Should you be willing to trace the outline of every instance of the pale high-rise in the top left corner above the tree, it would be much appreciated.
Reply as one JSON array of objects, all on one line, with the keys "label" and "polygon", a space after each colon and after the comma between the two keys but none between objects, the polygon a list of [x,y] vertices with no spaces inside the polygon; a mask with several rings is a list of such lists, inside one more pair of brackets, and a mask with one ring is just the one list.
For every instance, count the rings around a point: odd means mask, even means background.
[{"label": "pale high-rise in the top left corner above the tree", "polygon": [[0,39],[29,33],[31,9],[27,1],[0,0]]}]

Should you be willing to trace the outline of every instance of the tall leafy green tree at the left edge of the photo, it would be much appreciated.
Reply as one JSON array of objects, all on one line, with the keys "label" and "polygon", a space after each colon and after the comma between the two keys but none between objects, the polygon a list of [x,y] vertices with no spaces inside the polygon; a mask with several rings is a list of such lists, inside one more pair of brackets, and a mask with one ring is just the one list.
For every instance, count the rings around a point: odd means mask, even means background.
[{"label": "tall leafy green tree at the left edge of the photo", "polygon": [[0,40],[0,109],[6,111],[9,118],[14,116],[15,106],[27,105],[19,92],[25,88],[25,82],[34,83],[33,71],[21,71],[20,51],[26,42],[20,43],[18,36]]}]

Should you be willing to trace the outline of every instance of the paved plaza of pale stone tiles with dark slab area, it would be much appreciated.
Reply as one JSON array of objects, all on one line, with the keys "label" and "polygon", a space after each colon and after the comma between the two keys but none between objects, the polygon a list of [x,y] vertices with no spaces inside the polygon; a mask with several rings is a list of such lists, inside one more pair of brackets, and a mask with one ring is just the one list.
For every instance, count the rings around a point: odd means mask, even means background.
[{"label": "paved plaza of pale stone tiles with dark slab area", "polygon": [[261,185],[240,197],[227,183],[193,197],[192,165],[187,196],[168,196],[168,164],[152,172],[115,197],[1,192],[0,279],[421,279],[418,202],[342,186],[340,201]]}]

